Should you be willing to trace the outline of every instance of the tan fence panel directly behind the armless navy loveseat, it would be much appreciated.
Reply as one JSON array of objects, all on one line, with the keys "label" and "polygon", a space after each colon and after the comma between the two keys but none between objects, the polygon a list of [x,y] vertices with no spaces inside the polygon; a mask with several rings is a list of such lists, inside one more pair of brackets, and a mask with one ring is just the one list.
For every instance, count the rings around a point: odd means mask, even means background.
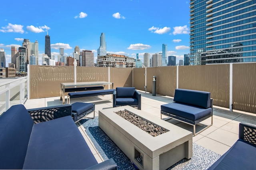
[{"label": "tan fence panel directly behind the armless navy loveseat", "polygon": [[214,105],[229,107],[229,64],[179,66],[178,87],[211,93]]}]

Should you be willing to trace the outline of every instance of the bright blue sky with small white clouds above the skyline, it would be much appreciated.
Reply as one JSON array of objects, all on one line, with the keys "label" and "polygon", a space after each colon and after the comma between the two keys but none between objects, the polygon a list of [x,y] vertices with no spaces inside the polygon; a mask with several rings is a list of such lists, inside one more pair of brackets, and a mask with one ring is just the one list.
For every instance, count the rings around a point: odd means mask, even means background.
[{"label": "bright blue sky with small white clouds above the skyline", "polygon": [[42,64],[45,35],[50,35],[51,53],[74,47],[94,52],[105,33],[107,53],[139,58],[162,52],[176,56],[176,63],[189,53],[189,0],[12,0],[1,2],[0,48],[11,63],[11,46],[24,39],[38,41]]}]

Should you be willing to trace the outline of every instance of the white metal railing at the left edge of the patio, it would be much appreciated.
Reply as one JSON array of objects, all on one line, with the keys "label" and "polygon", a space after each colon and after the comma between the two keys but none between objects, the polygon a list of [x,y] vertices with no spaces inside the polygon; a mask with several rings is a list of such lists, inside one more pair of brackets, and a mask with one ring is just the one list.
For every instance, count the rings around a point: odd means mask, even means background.
[{"label": "white metal railing at the left edge of the patio", "polygon": [[0,115],[16,104],[23,104],[28,96],[28,78],[0,79]]}]

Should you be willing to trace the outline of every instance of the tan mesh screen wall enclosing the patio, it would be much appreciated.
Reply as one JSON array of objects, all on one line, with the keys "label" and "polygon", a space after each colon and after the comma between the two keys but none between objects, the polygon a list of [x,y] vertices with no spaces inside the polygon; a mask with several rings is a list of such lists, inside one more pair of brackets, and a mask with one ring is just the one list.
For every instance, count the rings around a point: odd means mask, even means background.
[{"label": "tan mesh screen wall enclosing the patio", "polygon": [[[255,72],[256,63],[233,63],[147,68],[78,66],[76,75],[77,82],[110,81],[114,88],[134,86],[150,93],[156,76],[157,94],[173,97],[176,88],[208,91],[215,106],[230,108],[232,104],[233,109],[256,113]],[[29,76],[30,98],[59,96],[61,82],[74,82],[74,66],[31,65]]]}]

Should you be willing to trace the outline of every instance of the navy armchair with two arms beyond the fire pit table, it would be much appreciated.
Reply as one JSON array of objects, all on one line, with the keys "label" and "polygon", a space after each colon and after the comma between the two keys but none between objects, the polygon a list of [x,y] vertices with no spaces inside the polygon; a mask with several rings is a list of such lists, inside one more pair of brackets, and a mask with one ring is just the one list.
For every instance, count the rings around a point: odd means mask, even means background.
[{"label": "navy armchair with two arms beyond the fire pit table", "polygon": [[126,105],[141,110],[141,94],[134,87],[117,87],[113,93],[113,107]]}]

